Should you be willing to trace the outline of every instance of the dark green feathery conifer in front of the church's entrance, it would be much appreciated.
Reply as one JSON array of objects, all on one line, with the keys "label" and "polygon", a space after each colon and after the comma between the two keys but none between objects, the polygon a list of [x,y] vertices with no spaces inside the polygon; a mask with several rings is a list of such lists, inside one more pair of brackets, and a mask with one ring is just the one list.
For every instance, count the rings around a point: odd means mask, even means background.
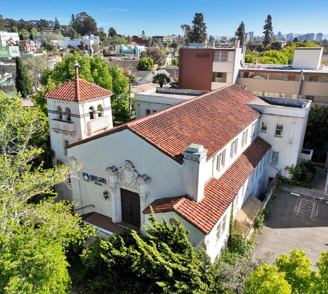
[{"label": "dark green feathery conifer in front of the church's entrance", "polygon": [[[194,250],[183,225],[159,223],[153,213],[150,221],[146,236],[125,230],[86,248],[88,278],[82,280],[99,285],[95,292],[216,293],[212,267],[201,261],[204,251]],[[102,276],[112,282],[102,283]]]}]

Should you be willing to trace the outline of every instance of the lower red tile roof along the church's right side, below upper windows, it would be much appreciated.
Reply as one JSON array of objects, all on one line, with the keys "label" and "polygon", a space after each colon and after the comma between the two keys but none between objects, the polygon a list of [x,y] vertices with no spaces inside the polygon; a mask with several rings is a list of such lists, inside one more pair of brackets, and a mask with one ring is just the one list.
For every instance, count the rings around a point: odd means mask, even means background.
[{"label": "lower red tile roof along the church's right side, below upper windows", "polygon": [[[176,212],[207,234],[269,148],[267,142],[257,137],[218,179],[212,177],[205,184],[204,198],[199,203],[179,196],[156,199],[150,205],[154,212]],[[149,212],[149,208],[143,211],[143,213]]]}]

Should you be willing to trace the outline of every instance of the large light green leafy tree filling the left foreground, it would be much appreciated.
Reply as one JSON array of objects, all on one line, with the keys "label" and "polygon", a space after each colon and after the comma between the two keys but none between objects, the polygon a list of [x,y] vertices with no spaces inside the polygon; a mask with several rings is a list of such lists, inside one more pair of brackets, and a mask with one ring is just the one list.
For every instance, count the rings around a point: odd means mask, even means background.
[{"label": "large light green leafy tree filling the left foreground", "polygon": [[53,185],[64,182],[66,166],[44,169],[48,120],[36,107],[0,91],[0,292],[67,293],[65,250],[93,229],[72,214],[73,204],[54,202]]}]

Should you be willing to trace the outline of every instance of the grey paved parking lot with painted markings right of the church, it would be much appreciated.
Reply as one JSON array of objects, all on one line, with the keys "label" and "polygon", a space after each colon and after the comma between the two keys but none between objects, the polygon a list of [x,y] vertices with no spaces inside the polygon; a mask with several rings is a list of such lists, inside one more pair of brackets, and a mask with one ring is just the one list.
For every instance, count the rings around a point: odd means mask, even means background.
[{"label": "grey paved parking lot with painted markings right of the church", "polygon": [[254,246],[252,259],[270,251],[270,264],[294,248],[304,250],[315,268],[319,252],[328,250],[328,201],[280,190]]}]

